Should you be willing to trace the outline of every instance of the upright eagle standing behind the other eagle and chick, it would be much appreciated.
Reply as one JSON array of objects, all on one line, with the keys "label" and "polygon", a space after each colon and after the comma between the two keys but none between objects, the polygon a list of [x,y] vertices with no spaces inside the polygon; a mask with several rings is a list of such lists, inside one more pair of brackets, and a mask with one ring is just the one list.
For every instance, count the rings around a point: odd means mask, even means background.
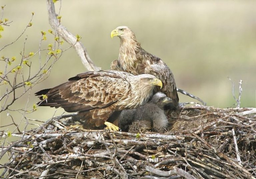
[{"label": "upright eagle standing behind the other eagle and chick", "polygon": [[159,57],[145,51],[129,27],[117,27],[111,32],[111,38],[115,36],[120,38],[119,57],[111,63],[110,69],[126,71],[134,75],[147,73],[156,76],[163,82],[163,88],[156,87],[155,92],[163,92],[171,98],[169,108],[176,109],[179,105],[179,97],[170,68]]}]

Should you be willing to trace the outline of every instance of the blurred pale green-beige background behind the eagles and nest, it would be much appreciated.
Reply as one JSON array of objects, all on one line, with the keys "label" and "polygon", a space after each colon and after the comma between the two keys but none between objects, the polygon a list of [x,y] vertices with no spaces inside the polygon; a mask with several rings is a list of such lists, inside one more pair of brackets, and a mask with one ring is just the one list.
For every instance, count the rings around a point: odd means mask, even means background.
[{"label": "blurred pale green-beige background behind the eagles and nest", "polygon": [[[59,2],[55,3],[56,12]],[[46,1],[1,0],[6,5],[3,18],[13,21],[1,32],[0,48],[14,41],[24,30],[34,12],[33,25],[15,44],[0,52],[0,56],[16,56],[20,60],[25,36],[28,36],[26,53],[37,51],[41,31],[51,29],[48,23]],[[148,52],[160,57],[174,73],[177,87],[192,93],[208,106],[220,108],[235,107],[232,84],[238,96],[238,82],[243,80],[241,107],[255,107],[256,95],[256,2],[255,1],[169,1],[169,0],[63,0],[60,15],[61,23],[74,35],[82,37],[92,60],[102,69],[109,69],[111,61],[118,58],[119,38],[111,40],[110,32],[117,26],[129,26],[137,40]],[[53,36],[47,33],[47,48],[53,43]],[[68,47],[64,43],[64,47]],[[46,53],[42,53],[42,58]],[[33,57],[36,66],[39,56]],[[18,61],[17,60],[17,61]],[[4,63],[0,63],[0,70]],[[25,70],[25,69],[24,69]],[[62,54],[54,65],[48,79],[36,85],[31,95],[26,94],[17,100],[10,109],[26,106],[29,108],[38,101],[33,93],[50,88],[69,77],[84,72],[78,55],[73,48]],[[5,93],[0,86],[1,95]],[[179,94],[180,102],[193,101]],[[62,109],[38,107],[28,118],[45,121],[53,115],[63,113]],[[10,112],[11,113],[11,112]],[[1,126],[10,124],[6,112],[1,113]],[[18,123],[22,116],[12,112]],[[25,120],[22,119],[20,129]],[[34,122],[33,122],[34,123]],[[30,125],[28,129],[36,126]],[[13,126],[1,128],[13,132]],[[8,141],[17,138],[10,138]],[[1,162],[3,163],[3,162]]]}]

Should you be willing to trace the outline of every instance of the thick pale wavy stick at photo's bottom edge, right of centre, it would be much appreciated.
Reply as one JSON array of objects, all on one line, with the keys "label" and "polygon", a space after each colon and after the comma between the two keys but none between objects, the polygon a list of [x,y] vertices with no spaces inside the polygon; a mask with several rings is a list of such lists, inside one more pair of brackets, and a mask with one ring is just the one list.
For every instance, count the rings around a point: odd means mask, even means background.
[{"label": "thick pale wavy stick at photo's bottom edge, right of centre", "polygon": [[185,170],[182,170],[182,169],[177,168],[177,167],[174,167],[174,169],[170,170],[170,171],[161,171],[161,170],[152,168],[150,166],[145,166],[144,168],[145,168],[146,171],[154,173],[154,174],[159,175],[159,176],[168,177],[168,176],[176,175],[177,174],[177,175],[183,176],[186,179],[196,179],[195,177],[190,175]]}]

